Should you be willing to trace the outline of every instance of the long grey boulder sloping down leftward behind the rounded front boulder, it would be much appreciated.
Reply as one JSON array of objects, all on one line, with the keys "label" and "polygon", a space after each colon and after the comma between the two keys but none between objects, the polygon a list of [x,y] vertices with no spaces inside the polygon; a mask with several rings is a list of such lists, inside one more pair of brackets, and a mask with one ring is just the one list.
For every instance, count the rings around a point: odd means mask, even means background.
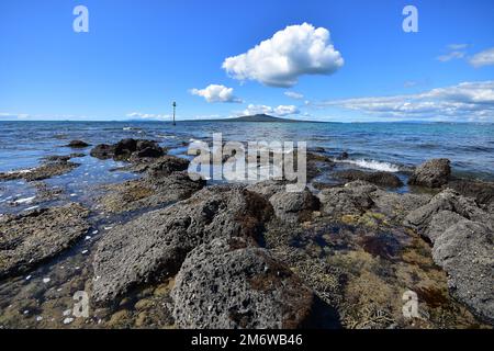
[{"label": "long grey boulder sloping down leftward behind the rounded front boulder", "polygon": [[256,238],[272,207],[242,186],[212,186],[170,207],[114,227],[99,242],[93,298],[178,272],[188,252],[214,238]]}]

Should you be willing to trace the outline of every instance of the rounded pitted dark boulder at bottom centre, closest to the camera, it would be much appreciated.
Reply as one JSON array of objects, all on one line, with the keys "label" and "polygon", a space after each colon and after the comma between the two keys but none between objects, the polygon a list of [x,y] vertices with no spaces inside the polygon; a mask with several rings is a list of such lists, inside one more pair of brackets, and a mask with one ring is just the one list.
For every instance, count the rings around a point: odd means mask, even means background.
[{"label": "rounded pitted dark boulder at bottom centre, closest to the camera", "polygon": [[266,249],[214,239],[188,256],[172,290],[179,328],[297,328],[314,294]]}]

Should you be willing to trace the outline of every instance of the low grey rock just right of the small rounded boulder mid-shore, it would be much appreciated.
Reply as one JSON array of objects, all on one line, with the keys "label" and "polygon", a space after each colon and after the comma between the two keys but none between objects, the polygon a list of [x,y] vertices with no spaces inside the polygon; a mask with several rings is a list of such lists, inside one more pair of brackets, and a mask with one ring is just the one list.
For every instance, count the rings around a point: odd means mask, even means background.
[{"label": "low grey rock just right of the small rounded boulder mid-shore", "polygon": [[370,194],[377,189],[375,185],[362,181],[324,189],[318,194],[322,213],[329,216],[361,214],[372,206]]}]

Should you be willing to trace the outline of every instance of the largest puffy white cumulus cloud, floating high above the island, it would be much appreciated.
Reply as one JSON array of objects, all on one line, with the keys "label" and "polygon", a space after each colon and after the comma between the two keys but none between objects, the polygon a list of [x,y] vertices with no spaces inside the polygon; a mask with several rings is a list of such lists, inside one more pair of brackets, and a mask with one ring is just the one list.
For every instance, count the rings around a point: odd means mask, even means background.
[{"label": "largest puffy white cumulus cloud, floating high above the island", "polygon": [[223,61],[238,80],[256,80],[270,87],[293,87],[303,75],[330,75],[344,65],[329,31],[303,23],[290,25],[247,53]]}]

